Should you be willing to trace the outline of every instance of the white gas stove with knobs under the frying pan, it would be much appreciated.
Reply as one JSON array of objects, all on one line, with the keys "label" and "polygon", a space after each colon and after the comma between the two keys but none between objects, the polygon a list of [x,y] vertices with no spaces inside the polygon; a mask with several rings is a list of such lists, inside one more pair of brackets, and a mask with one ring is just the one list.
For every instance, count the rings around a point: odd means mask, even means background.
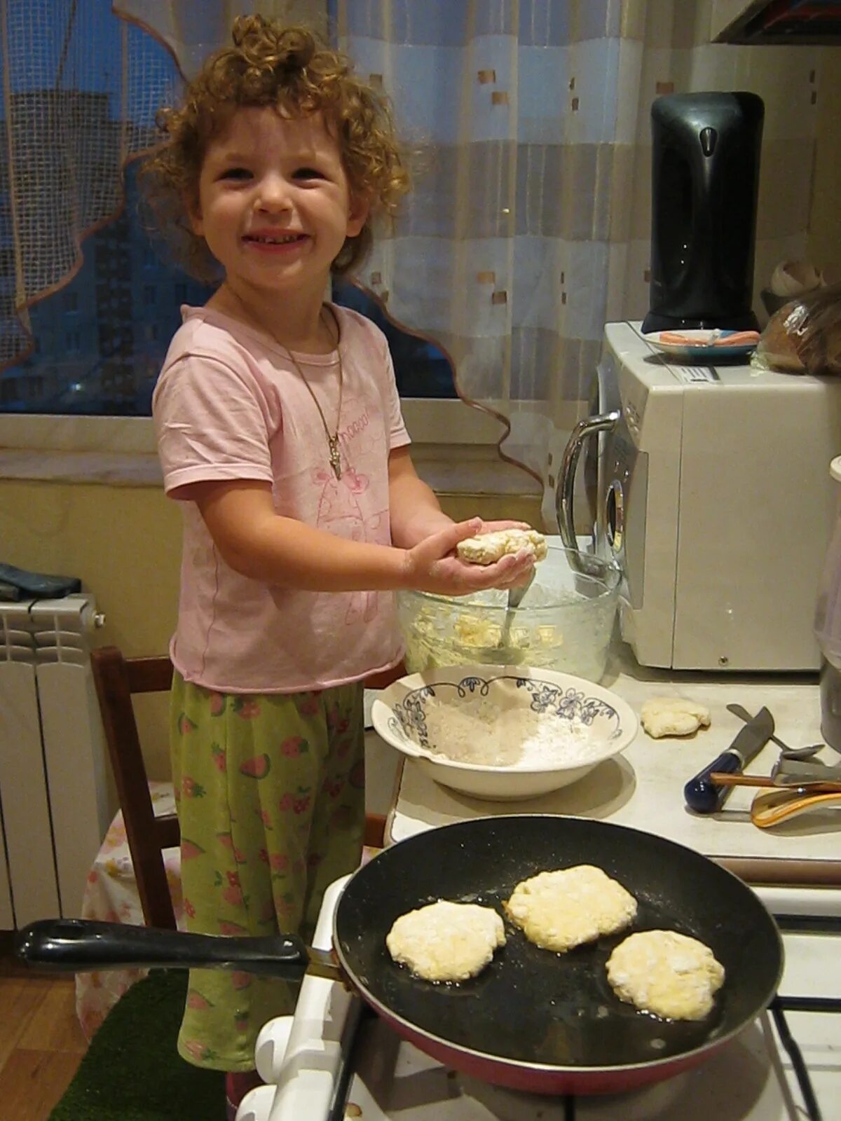
[{"label": "white gas stove with knobs under the frying pan", "polygon": [[[324,898],[329,948],[344,880]],[[777,917],[785,972],[768,1012],[702,1066],[630,1094],[545,1097],[447,1069],[340,983],[306,976],[294,1017],[260,1034],[266,1085],[237,1121],[839,1121],[841,891],[756,888]]]}]

